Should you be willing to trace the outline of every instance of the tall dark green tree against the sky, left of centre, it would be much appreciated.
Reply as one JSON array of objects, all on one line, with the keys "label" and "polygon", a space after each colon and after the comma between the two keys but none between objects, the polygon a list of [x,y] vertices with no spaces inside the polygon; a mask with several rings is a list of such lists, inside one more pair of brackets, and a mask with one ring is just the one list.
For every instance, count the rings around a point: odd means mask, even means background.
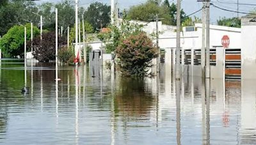
[{"label": "tall dark green tree against the sky, left of centre", "polygon": [[110,6],[99,2],[90,4],[84,11],[84,20],[92,24],[94,31],[106,27],[110,22]]}]

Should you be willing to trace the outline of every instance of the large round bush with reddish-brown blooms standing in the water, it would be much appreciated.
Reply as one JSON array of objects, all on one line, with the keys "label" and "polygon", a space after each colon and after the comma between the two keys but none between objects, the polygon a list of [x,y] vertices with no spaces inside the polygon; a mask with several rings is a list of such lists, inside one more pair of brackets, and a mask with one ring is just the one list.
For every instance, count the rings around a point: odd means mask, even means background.
[{"label": "large round bush with reddish-brown blooms standing in the water", "polygon": [[157,52],[157,47],[144,32],[123,39],[116,49],[120,71],[125,76],[146,76],[150,62],[157,57]]}]

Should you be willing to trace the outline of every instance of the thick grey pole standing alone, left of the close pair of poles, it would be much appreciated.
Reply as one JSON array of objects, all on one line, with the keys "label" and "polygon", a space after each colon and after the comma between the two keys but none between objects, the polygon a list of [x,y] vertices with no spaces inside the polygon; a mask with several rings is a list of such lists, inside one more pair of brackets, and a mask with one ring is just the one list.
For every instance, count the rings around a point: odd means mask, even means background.
[{"label": "thick grey pole standing alone, left of the close pair of poles", "polygon": [[180,80],[180,0],[177,0],[177,37],[176,37],[175,79]]}]

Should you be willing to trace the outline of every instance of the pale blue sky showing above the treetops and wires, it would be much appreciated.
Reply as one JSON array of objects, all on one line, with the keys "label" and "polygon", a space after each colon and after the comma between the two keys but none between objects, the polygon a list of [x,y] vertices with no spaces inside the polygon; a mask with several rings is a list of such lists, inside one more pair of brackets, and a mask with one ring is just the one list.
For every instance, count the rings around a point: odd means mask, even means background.
[{"label": "pale blue sky showing above the treetops and wires", "polygon": [[[57,3],[61,0],[40,0],[39,3],[44,2],[52,2]],[[75,1],[75,0],[74,0]],[[90,3],[93,3],[97,0],[79,0],[79,5],[87,7],[90,5]],[[110,3],[110,0],[98,0],[102,3]],[[117,0],[118,6],[121,9],[129,9],[130,6],[145,3],[147,0]],[[169,0],[170,3],[174,2],[176,3],[177,0]],[[225,8],[227,10],[237,11],[237,4],[227,4],[227,3],[237,3],[237,0],[211,0],[212,3],[214,3],[216,6],[220,8]],[[224,3],[223,3],[224,2]],[[256,8],[256,0],[239,0],[239,11],[249,13],[254,8]],[[242,4],[254,4],[254,6],[248,6],[248,5],[242,5]],[[186,12],[187,15],[190,13],[193,13],[197,10],[200,10],[202,8],[202,3],[197,2],[197,0],[182,0],[182,8]],[[195,14],[197,17],[200,17],[201,13]],[[240,16],[243,14],[239,14]],[[219,10],[218,8],[214,8],[214,6],[211,6],[211,24],[215,24],[216,20],[220,17],[237,17],[237,13],[229,12],[229,11],[223,11]]]}]

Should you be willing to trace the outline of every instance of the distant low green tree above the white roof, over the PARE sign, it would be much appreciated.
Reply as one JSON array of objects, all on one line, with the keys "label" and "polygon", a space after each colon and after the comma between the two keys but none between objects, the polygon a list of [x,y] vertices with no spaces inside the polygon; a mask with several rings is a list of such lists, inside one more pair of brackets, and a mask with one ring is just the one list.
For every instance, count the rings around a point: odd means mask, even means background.
[{"label": "distant low green tree above the white roof, over the PARE sign", "polygon": [[227,27],[240,28],[241,27],[241,20],[239,20],[239,18],[237,18],[237,17],[234,17],[234,18],[223,17],[223,18],[220,18],[219,20],[217,20],[217,24],[227,26]]}]

